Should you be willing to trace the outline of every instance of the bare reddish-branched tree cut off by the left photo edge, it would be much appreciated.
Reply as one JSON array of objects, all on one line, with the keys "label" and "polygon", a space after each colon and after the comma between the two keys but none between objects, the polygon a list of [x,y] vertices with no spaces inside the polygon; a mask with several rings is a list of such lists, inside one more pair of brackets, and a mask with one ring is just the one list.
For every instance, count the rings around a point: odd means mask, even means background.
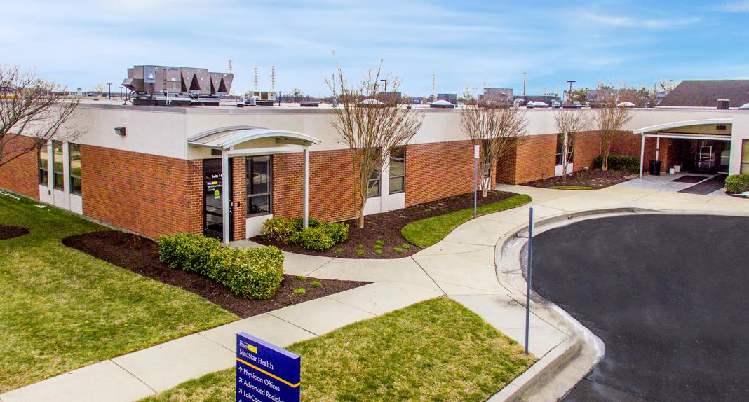
[{"label": "bare reddish-branched tree cut off by the left photo edge", "polygon": [[65,88],[0,65],[0,166],[37,150],[52,138],[70,141],[80,135],[68,124],[79,100]]}]

